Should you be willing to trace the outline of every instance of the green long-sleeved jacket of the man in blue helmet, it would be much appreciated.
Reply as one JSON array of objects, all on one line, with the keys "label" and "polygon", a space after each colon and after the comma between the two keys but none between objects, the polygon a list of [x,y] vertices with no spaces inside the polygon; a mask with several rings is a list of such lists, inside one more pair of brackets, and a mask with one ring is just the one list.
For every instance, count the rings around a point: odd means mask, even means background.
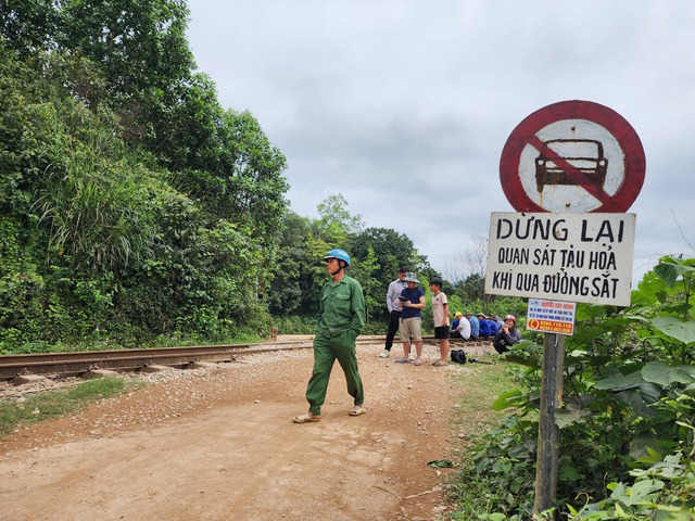
[{"label": "green long-sleeved jacket of the man in blue helmet", "polygon": [[366,317],[365,295],[359,282],[345,275],[337,284],[332,280],[324,284],[317,327],[320,334],[331,338],[352,331],[357,336]]}]

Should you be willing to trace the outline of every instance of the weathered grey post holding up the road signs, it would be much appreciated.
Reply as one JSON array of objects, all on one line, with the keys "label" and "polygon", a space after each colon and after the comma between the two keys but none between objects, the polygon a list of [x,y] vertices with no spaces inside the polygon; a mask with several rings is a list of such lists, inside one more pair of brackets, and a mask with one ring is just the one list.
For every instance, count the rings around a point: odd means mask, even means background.
[{"label": "weathered grey post holding up the road signs", "polygon": [[545,333],[543,339],[543,374],[541,383],[541,417],[535,460],[535,498],[533,512],[553,507],[557,493],[557,465],[559,429],[555,424],[555,410],[563,398],[563,366],[565,336]]}]

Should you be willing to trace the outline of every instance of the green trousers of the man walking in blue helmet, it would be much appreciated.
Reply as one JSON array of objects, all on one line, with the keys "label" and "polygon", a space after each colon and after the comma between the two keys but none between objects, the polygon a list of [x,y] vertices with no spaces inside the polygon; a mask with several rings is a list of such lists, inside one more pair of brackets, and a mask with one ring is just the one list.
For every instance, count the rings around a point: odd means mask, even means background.
[{"label": "green trousers of the man walking in blue helmet", "polygon": [[357,354],[355,353],[355,335],[352,331],[334,334],[331,338],[316,333],[314,338],[314,371],[306,385],[306,401],[312,415],[321,414],[321,406],[326,401],[328,380],[338,359],[345,373],[348,393],[354,398],[354,405],[362,405],[365,391],[362,377],[357,370]]}]

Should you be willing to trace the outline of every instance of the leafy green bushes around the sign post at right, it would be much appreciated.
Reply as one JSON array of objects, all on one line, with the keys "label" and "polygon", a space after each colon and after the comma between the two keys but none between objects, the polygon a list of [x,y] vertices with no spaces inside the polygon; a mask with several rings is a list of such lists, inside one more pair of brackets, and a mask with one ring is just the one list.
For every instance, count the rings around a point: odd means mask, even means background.
[{"label": "leafy green bushes around the sign post at right", "polygon": [[[569,519],[691,520],[695,514],[695,259],[665,257],[627,308],[579,305],[567,339],[557,512]],[[525,340],[527,392],[462,471],[477,519],[532,516],[542,347]],[[482,513],[481,513],[482,512]],[[556,513],[557,513],[556,512]]]}]

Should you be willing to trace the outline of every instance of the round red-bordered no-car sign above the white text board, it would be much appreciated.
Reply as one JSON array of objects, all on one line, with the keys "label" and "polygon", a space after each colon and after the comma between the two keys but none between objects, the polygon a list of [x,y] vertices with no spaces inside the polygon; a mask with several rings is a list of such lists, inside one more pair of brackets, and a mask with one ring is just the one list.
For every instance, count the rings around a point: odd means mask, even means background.
[{"label": "round red-bordered no-car sign above the white text board", "polygon": [[623,213],[645,168],[642,142],[620,114],[591,101],[561,101],[511,131],[500,179],[517,212]]}]

